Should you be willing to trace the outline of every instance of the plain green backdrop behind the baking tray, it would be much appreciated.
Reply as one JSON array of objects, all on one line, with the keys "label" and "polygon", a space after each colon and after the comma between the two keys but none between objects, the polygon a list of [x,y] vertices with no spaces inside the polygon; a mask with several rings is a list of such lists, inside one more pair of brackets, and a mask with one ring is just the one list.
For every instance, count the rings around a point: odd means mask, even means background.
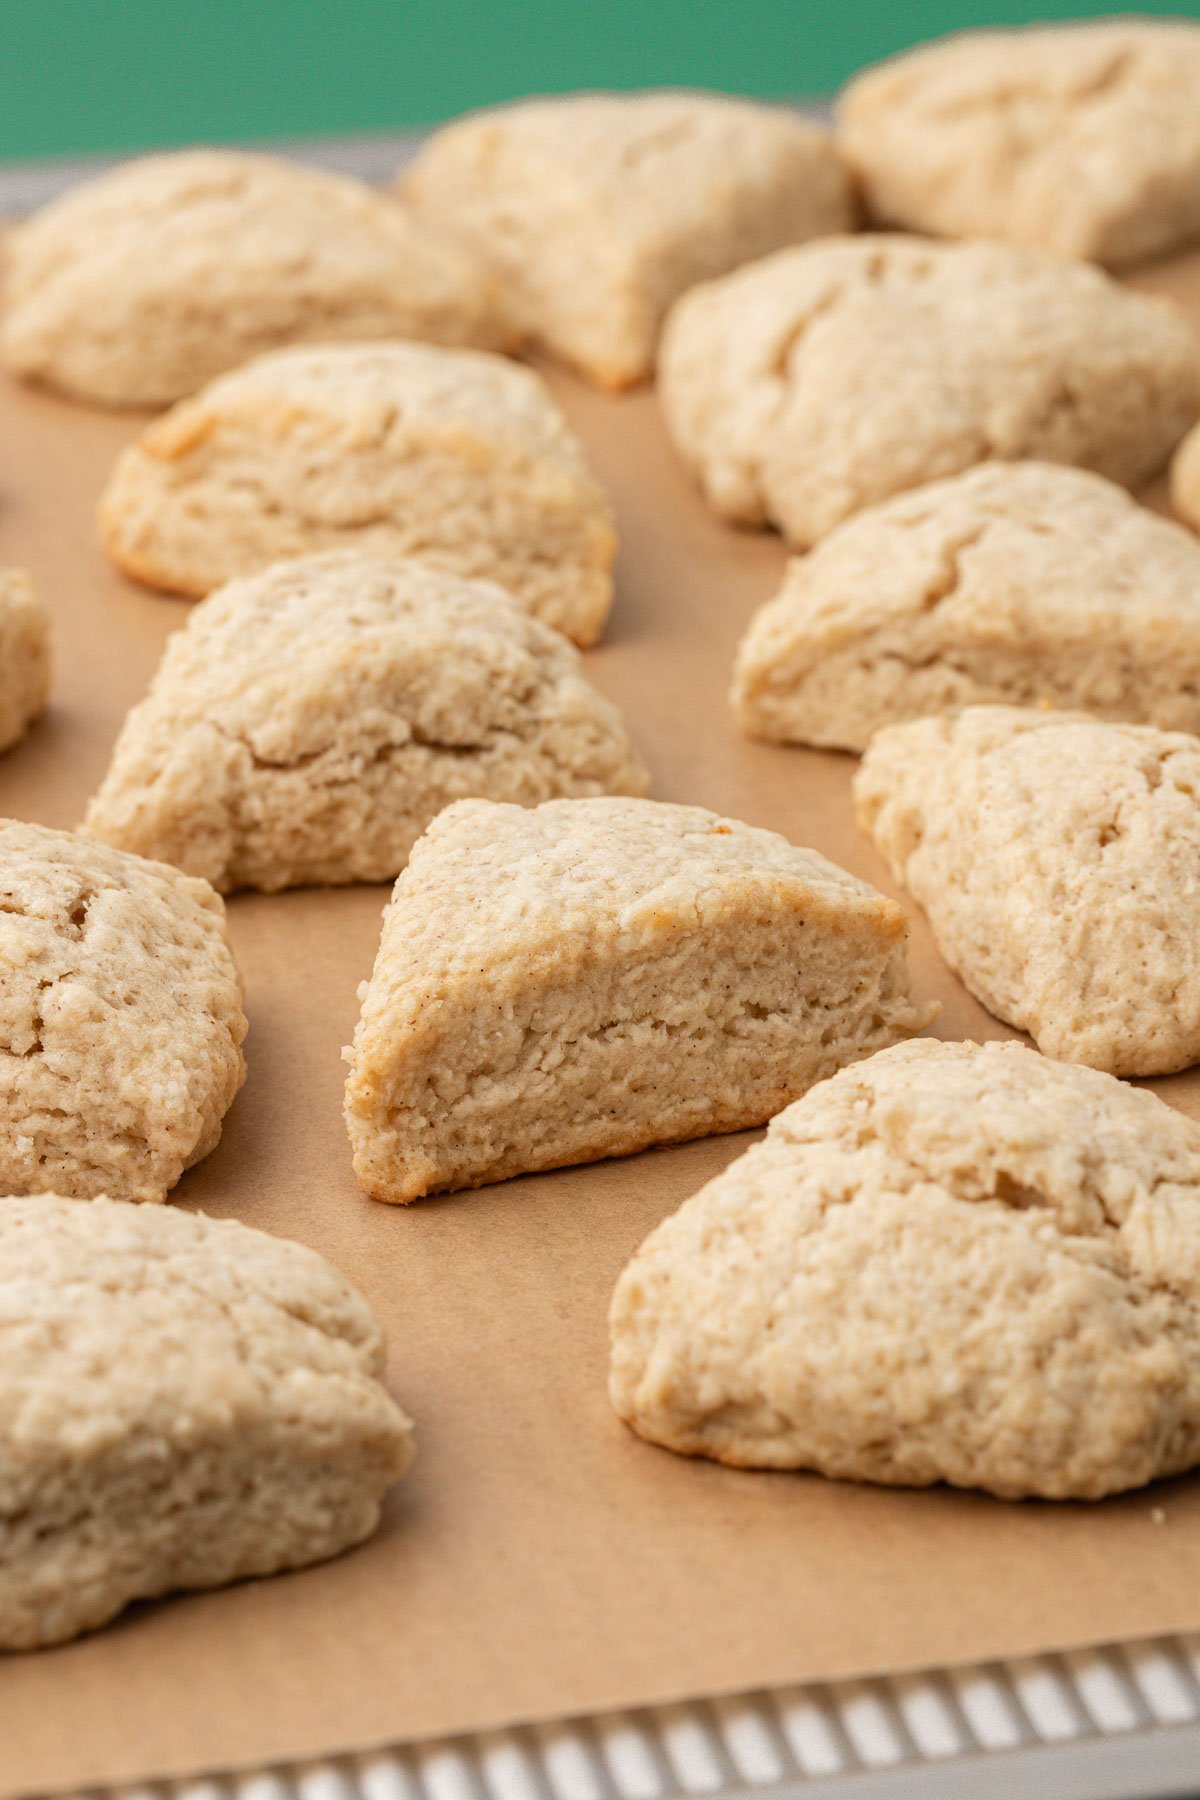
[{"label": "plain green backdrop behind the baking tray", "polygon": [[[1070,0],[0,0],[0,158],[385,131],[576,86],[828,94],[919,38],[1096,11]],[[1200,0],[1175,11],[1200,18]]]}]

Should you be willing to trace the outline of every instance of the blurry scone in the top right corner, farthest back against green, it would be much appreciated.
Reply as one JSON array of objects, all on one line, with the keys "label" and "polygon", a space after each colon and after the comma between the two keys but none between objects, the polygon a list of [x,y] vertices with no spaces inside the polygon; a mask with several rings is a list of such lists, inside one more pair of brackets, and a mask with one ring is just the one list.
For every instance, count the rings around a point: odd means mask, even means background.
[{"label": "blurry scone in the top right corner, farthest back against green", "polygon": [[1112,266],[1200,236],[1200,31],[968,32],[867,70],[838,140],[880,225]]}]

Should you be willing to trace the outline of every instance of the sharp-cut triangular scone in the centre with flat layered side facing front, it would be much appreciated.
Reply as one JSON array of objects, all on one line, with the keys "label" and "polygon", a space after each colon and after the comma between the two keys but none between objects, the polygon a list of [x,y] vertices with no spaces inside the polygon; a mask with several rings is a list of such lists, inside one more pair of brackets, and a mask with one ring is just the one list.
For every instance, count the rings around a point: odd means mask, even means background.
[{"label": "sharp-cut triangular scone in the centre with flat layered side facing front", "polygon": [[347,1051],[354,1170],[414,1201],[761,1125],[928,1022],[903,909],[698,806],[461,801],[412,851]]}]

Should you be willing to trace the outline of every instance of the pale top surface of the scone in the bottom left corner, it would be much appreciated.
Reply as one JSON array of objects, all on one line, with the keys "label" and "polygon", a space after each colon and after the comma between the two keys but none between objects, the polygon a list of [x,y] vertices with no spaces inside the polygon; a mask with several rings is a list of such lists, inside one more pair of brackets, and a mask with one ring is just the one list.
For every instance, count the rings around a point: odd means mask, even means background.
[{"label": "pale top surface of the scone in the bottom left corner", "polygon": [[[299,1397],[306,1368],[371,1404],[369,1384],[383,1377],[383,1332],[345,1276],[308,1246],[236,1219],[108,1195],[5,1195],[0,1292],[0,1384],[20,1395],[27,1445],[41,1435],[61,1442],[72,1422],[169,1438],[184,1397],[193,1429],[203,1409],[209,1424],[227,1422],[230,1375],[257,1409],[272,1404],[273,1382],[291,1381]],[[31,1404],[40,1390],[45,1411]]]}]

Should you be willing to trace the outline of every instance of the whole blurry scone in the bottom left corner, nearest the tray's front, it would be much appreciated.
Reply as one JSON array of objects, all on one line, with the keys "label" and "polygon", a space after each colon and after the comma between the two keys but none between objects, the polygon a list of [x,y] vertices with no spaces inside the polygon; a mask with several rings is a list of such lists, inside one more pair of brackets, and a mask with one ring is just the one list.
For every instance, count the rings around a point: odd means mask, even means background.
[{"label": "whole blurry scone in the bottom left corner, nearest the tray's front", "polygon": [[369,1537],[412,1456],[383,1334],[234,1220],[0,1201],[0,1649]]}]

